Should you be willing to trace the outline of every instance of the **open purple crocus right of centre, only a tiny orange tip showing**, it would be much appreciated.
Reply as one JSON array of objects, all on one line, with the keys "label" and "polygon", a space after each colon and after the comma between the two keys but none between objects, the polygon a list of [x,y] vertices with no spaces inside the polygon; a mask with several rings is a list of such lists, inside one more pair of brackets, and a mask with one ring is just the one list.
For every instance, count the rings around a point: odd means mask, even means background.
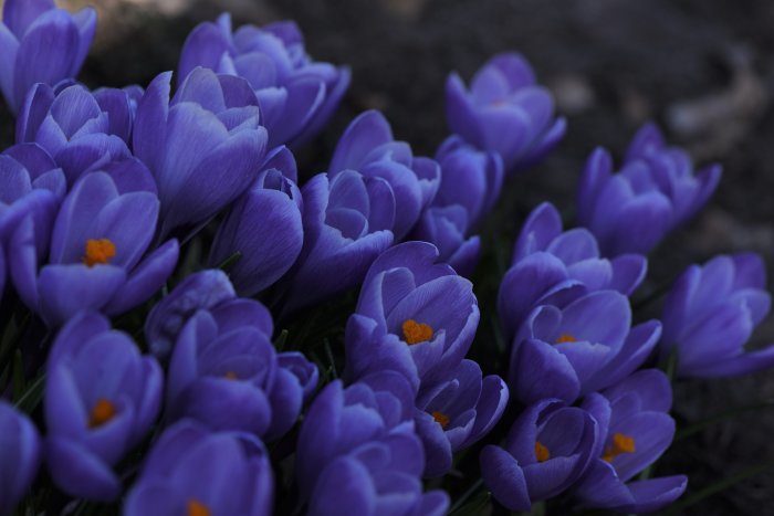
[{"label": "open purple crocus right of centre, only a tiny orange tip showing", "polygon": [[623,294],[599,291],[559,309],[544,305],[527,317],[513,341],[509,386],[514,398],[533,403],[609,387],[637,369],[661,335],[657,320],[630,328]]}]

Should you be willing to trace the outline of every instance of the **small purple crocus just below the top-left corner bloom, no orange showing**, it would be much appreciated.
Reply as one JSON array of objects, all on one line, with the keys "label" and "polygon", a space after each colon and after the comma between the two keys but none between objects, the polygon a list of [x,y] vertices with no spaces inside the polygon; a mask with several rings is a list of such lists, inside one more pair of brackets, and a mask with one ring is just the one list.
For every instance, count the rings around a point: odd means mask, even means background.
[{"label": "small purple crocus just below the top-left corner bloom, no orange showing", "polygon": [[67,185],[86,170],[130,157],[132,99],[123,89],[92,93],[80,84],[36,84],[17,120],[17,141],[43,147],[64,170]]}]

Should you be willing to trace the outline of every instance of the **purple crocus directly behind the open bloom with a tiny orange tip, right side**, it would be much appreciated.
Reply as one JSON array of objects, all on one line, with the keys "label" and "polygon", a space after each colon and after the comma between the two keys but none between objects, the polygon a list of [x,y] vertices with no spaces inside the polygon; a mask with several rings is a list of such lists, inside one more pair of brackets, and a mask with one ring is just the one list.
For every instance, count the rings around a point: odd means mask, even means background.
[{"label": "purple crocus directly behind the open bloom with a tiny orange tip, right side", "polygon": [[599,256],[594,235],[582,228],[563,231],[550,202],[535,208],[513,248],[513,265],[500,285],[498,312],[511,339],[538,305],[565,306],[584,293],[614,289],[630,295],[645,278],[647,259]]}]

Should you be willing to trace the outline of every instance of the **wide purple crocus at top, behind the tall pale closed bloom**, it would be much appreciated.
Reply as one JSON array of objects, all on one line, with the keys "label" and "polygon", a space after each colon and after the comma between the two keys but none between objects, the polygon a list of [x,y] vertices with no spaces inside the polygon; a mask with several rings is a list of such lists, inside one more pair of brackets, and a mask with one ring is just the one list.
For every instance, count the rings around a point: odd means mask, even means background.
[{"label": "wide purple crocus at top, behind the tall pale closed bloom", "polygon": [[308,140],[327,123],[349,85],[349,69],[314,62],[292,21],[231,29],[231,15],[199,24],[182,48],[178,83],[196,66],[244,77],[255,91],[269,147]]}]

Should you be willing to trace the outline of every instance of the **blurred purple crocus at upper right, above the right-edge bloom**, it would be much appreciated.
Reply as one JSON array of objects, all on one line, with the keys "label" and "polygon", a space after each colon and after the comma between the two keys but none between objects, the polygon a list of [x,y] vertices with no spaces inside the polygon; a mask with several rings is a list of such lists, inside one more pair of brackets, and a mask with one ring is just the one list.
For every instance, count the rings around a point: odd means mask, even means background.
[{"label": "blurred purple crocus at upper right, above the right-edge bloom", "polygon": [[621,169],[603,148],[586,161],[578,188],[578,221],[607,256],[647,253],[693,217],[720,181],[720,165],[693,172],[688,154],[666,147],[653,124],[635,136]]}]

